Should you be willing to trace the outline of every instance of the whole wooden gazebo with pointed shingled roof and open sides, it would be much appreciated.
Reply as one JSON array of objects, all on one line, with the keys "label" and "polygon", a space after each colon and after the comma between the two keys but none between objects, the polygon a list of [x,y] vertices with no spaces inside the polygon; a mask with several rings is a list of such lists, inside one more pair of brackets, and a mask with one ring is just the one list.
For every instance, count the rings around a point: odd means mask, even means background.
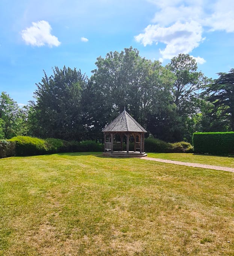
[{"label": "whole wooden gazebo with pointed shingled roof and open sides", "polygon": [[[144,145],[147,131],[127,113],[125,108],[113,122],[103,129],[103,133],[104,155],[112,157],[142,157],[147,155]],[[132,142],[132,151],[129,150],[129,141]]]}]

